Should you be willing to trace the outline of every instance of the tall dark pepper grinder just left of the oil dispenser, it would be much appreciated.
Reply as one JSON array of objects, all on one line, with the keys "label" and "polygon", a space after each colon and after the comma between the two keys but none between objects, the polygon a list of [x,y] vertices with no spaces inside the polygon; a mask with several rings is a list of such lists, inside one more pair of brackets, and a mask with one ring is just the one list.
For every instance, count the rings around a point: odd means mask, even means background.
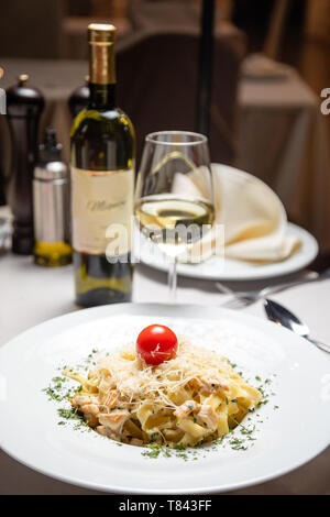
[{"label": "tall dark pepper grinder just left of the oil dispenser", "polygon": [[7,113],[11,133],[11,178],[9,205],[13,213],[12,251],[33,252],[32,176],[37,160],[37,130],[44,108],[41,91],[28,85],[23,74],[7,90]]}]

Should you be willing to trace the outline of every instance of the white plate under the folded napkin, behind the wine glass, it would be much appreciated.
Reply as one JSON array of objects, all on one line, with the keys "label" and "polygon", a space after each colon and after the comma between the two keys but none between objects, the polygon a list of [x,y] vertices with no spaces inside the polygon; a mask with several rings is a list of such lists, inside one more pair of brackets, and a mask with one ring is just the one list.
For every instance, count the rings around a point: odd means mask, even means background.
[{"label": "white plate under the folded napkin, behind the wine glass", "polygon": [[[207,280],[257,280],[289,275],[308,266],[317,256],[319,246],[317,240],[302,228],[288,223],[288,235],[295,235],[301,241],[301,249],[289,258],[273,264],[253,264],[232,258],[212,256],[200,264],[178,264],[177,273],[190,278]],[[138,234],[138,230],[136,230]],[[136,235],[139,239],[140,235]],[[141,235],[141,261],[160,271],[168,271],[166,256],[156,245]]]}]

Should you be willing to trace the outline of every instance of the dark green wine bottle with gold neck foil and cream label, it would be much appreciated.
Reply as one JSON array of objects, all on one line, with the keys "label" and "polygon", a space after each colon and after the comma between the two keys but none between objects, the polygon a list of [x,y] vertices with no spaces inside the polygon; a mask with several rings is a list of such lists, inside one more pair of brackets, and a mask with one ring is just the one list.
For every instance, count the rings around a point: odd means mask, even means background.
[{"label": "dark green wine bottle with gold neck foil and cream label", "polygon": [[[113,25],[88,26],[89,105],[72,129],[76,301],[85,307],[130,301],[132,293],[135,136],[130,119],[116,107],[114,38]],[[124,250],[109,255],[111,224],[127,229],[128,239]]]}]

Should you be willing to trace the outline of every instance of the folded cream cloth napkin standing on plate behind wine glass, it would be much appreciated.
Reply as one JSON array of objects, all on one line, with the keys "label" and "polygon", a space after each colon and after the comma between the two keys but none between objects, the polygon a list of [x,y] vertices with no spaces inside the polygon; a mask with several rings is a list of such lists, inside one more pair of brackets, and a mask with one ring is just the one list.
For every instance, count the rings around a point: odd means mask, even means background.
[{"label": "folded cream cloth napkin standing on plate behind wine glass", "polygon": [[[193,245],[189,255],[202,258],[218,252],[224,228],[224,255],[241,261],[278,262],[294,254],[299,239],[287,235],[287,217],[276,194],[261,179],[226,165],[213,164],[216,219],[204,245]],[[173,191],[191,197],[205,197],[202,174],[177,174]],[[219,224],[219,228],[217,228]],[[222,238],[223,242],[223,238]],[[189,260],[189,257],[188,257]]]}]

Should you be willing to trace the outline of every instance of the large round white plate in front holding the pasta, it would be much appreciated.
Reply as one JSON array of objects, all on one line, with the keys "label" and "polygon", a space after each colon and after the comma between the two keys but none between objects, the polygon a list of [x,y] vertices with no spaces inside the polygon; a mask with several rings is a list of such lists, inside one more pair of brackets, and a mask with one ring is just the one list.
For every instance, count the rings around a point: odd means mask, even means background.
[{"label": "large round white plate in front holding the pasta", "polygon": [[[273,378],[271,389],[276,395],[257,414],[251,414],[251,425],[257,425],[254,447],[234,451],[227,443],[198,453],[195,461],[155,460],[143,457],[143,448],[119,447],[94,431],[58,426],[57,403],[42,391],[58,375],[58,366],[76,364],[96,346],[112,351],[151,322],[170,324],[194,343],[218,350],[242,366],[250,380],[256,375]],[[329,373],[327,354],[294,333],[248,315],[145,304],[81,310],[28,330],[0,350],[0,444],[38,472],[99,491],[230,491],[285,474],[327,448]],[[279,408],[275,410],[275,406]]]}]

